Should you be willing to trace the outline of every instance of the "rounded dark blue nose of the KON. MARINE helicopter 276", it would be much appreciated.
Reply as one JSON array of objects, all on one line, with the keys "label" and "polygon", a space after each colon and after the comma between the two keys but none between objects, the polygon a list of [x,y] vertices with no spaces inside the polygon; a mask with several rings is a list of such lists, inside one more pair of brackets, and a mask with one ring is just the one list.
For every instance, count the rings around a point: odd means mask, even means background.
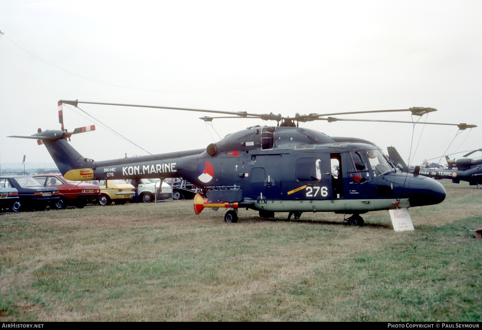
[{"label": "rounded dark blue nose of the KON. MARINE helicopter 276", "polygon": [[434,205],[442,203],[445,199],[445,188],[431,178],[415,176],[411,178],[409,188],[410,206]]}]

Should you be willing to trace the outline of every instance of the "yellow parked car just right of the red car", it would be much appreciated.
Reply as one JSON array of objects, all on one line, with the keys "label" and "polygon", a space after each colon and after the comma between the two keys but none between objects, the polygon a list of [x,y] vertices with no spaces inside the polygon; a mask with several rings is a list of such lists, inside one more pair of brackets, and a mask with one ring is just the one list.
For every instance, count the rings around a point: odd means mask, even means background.
[{"label": "yellow parked car just right of the red car", "polygon": [[134,186],[125,180],[93,180],[89,183],[100,188],[99,205],[110,205],[112,202],[123,205],[135,193]]}]

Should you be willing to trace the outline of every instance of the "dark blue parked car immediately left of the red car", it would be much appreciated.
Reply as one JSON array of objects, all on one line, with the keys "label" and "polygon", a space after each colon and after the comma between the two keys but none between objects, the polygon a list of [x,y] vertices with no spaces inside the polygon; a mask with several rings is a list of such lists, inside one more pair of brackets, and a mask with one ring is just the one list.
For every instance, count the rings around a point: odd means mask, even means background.
[{"label": "dark blue parked car immediately left of the red car", "polygon": [[23,210],[43,211],[47,206],[53,206],[60,198],[57,188],[43,187],[29,176],[1,176],[0,187],[17,189]]}]

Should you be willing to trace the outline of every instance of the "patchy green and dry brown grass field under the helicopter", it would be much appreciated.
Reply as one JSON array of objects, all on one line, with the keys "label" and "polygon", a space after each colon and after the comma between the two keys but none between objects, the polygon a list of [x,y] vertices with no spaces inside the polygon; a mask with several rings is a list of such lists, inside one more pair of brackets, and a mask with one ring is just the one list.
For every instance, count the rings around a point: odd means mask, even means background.
[{"label": "patchy green and dry brown grass field under the helicopter", "polygon": [[388,211],[260,220],[189,201],[0,215],[0,321],[481,321],[482,190]]}]

